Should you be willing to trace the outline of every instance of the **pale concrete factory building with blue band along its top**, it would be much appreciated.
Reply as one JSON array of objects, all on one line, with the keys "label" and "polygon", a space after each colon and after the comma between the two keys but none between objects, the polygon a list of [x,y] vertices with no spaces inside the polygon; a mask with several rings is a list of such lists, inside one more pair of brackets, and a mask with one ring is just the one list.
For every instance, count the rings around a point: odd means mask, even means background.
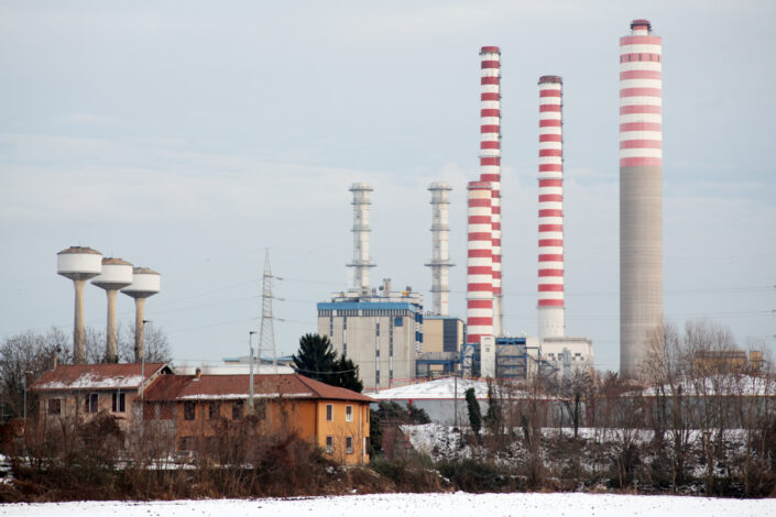
[{"label": "pale concrete factory building with blue band along its top", "polygon": [[359,366],[365,389],[381,389],[415,377],[423,353],[423,296],[411,287],[392,292],[348,290],[318,304],[318,333]]}]

